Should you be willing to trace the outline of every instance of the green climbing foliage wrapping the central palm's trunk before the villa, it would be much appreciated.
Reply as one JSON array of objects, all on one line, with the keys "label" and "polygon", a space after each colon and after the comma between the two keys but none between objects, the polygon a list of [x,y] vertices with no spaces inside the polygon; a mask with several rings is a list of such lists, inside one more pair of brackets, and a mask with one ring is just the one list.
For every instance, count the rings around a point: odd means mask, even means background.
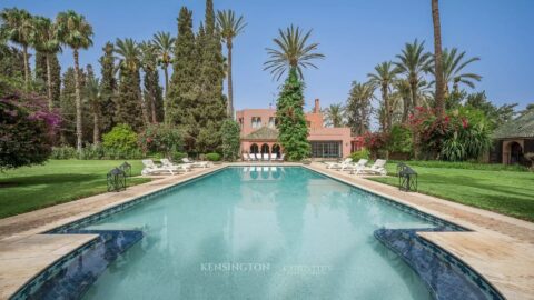
[{"label": "green climbing foliage wrapping the central palm's trunk before the villa", "polygon": [[310,152],[303,89],[296,68],[291,68],[276,103],[278,141],[287,159],[293,161],[307,158]]}]

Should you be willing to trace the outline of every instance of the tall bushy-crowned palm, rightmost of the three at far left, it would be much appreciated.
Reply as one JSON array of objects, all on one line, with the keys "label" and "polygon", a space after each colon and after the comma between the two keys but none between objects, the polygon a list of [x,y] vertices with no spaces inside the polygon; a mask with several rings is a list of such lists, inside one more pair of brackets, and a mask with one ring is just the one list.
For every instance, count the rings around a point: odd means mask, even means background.
[{"label": "tall bushy-crowned palm, rightmost of the three at far left", "polygon": [[60,12],[56,17],[58,26],[58,37],[61,43],[72,49],[75,57],[75,83],[76,83],[76,148],[81,153],[81,81],[80,81],[80,64],[79,50],[88,49],[92,46],[92,27],[86,20],[86,17],[76,13],[73,10]]}]

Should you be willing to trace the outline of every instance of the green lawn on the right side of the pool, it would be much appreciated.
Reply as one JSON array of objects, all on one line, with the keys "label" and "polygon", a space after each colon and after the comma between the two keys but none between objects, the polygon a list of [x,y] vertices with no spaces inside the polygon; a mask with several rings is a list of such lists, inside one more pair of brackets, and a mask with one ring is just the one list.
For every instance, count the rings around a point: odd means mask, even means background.
[{"label": "green lawn on the right side of the pool", "polygon": [[[457,169],[447,163],[407,164],[417,171],[422,193],[534,221],[534,172]],[[388,163],[387,170],[392,176],[396,174],[396,163]],[[398,184],[396,177],[370,180]]]}]

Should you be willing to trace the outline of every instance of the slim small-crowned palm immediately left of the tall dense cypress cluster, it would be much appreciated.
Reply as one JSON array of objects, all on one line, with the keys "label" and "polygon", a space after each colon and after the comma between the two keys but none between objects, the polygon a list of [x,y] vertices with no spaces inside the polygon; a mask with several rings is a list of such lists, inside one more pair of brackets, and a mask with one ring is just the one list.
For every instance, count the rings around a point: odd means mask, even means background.
[{"label": "slim small-crowned palm immediately left of the tall dense cypress cluster", "polygon": [[154,46],[158,56],[158,63],[164,69],[165,74],[165,102],[164,102],[164,123],[167,122],[167,96],[169,92],[169,64],[172,62],[176,39],[169,32],[158,31],[154,34]]}]

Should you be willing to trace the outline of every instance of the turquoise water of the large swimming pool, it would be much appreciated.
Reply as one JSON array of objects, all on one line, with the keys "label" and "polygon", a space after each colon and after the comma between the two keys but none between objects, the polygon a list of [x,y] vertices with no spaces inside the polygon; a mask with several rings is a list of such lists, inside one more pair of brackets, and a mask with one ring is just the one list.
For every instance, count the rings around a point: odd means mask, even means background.
[{"label": "turquoise water of the large swimming pool", "polygon": [[227,168],[86,227],[145,238],[85,299],[432,299],[384,227],[434,226],[304,168]]}]

